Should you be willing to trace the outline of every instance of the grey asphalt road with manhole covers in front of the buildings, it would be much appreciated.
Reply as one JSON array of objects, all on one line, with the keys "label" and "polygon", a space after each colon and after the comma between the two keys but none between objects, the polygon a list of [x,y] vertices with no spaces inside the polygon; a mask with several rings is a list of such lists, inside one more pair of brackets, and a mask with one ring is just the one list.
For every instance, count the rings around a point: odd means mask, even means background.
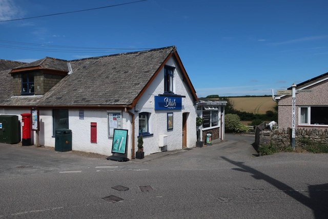
[{"label": "grey asphalt road with manhole covers in front of the buildings", "polygon": [[126,163],[0,144],[0,218],[327,217],[328,154],[258,157],[253,136],[226,138]]}]

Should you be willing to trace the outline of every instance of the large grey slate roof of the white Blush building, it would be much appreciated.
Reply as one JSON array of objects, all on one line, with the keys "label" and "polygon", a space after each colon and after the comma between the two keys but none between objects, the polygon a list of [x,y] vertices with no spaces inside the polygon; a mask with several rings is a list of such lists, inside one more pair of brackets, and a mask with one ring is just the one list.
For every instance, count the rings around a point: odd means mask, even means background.
[{"label": "large grey slate roof of the white Blush building", "polygon": [[[69,62],[72,73],[44,95],[12,96],[9,83],[3,87],[10,91],[4,95],[7,98],[0,97],[0,106],[129,106],[173,52],[174,46],[72,61],[46,57],[15,69],[40,66],[64,70]],[[10,77],[0,75],[0,80],[10,81]]]}]

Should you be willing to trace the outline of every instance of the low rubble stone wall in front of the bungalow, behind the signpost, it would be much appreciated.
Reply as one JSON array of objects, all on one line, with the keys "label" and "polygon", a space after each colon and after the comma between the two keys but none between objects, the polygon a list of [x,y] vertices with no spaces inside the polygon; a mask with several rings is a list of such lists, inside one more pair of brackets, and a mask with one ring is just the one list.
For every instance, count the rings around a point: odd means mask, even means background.
[{"label": "low rubble stone wall in front of the bungalow, behind the signpost", "polygon": [[[269,145],[272,143],[278,148],[289,147],[292,144],[292,129],[276,129],[274,131],[261,131],[258,133],[259,143],[257,148],[261,145]],[[305,129],[298,128],[295,130],[295,147],[303,147],[304,140],[308,144],[328,144],[328,130],[327,129]]]}]

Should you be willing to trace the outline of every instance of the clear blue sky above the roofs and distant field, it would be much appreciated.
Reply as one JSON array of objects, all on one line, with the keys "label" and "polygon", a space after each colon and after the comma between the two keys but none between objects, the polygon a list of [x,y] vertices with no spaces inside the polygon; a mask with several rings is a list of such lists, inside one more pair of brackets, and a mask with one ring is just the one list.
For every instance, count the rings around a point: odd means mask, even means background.
[{"label": "clear blue sky above the roofs and distant field", "polygon": [[[0,0],[0,21],[128,2]],[[271,89],[328,72],[327,9],[328,1],[316,0],[148,0],[1,22],[0,58],[31,62],[129,51],[34,51],[12,47],[40,47],[4,41],[125,49],[175,45],[198,97],[271,95]]]}]

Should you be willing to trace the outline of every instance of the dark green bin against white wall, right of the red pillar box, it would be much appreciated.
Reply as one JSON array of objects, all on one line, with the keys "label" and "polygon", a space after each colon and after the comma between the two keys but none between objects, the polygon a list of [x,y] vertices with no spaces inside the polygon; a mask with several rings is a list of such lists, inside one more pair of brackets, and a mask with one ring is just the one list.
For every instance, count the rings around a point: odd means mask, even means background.
[{"label": "dark green bin against white wall, right of the red pillar box", "polygon": [[72,130],[56,129],[55,138],[55,151],[72,150]]}]

